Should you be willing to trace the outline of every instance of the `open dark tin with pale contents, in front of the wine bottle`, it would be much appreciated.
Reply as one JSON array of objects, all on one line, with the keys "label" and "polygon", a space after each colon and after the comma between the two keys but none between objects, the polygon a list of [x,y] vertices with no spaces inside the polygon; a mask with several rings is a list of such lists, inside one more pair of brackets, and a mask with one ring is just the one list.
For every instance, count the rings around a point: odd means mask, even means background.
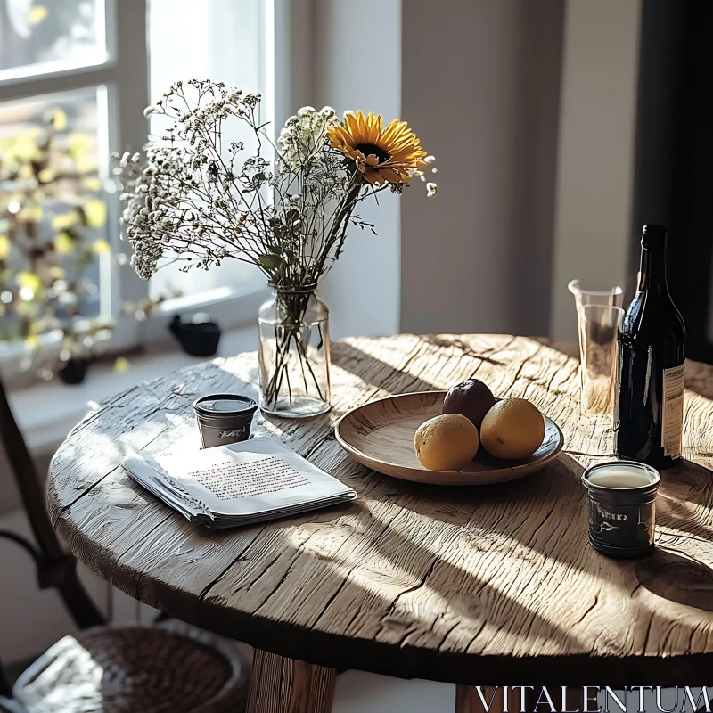
[{"label": "open dark tin with pale contents, in front of the wine bottle", "polygon": [[[641,471],[650,482],[637,488],[610,488],[590,477],[613,465]],[[659,471],[635,461],[607,461],[588,468],[582,484],[589,494],[589,543],[610,557],[641,557],[653,552]]]}]

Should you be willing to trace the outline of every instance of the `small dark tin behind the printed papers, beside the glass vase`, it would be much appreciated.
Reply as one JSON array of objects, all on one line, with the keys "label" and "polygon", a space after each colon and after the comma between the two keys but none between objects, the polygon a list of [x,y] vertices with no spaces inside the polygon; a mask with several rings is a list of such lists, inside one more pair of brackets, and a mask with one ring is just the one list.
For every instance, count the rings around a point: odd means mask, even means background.
[{"label": "small dark tin behind the printed papers, beside the glass vase", "polygon": [[240,394],[209,394],[193,402],[195,420],[204,448],[225,446],[250,438],[258,404]]}]

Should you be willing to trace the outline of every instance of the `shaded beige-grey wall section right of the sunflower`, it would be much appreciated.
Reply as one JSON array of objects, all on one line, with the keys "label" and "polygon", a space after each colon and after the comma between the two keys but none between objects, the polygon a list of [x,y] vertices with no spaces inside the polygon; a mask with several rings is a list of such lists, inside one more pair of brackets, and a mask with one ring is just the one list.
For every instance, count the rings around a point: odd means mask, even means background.
[{"label": "shaded beige-grey wall section right of the sunflower", "polygon": [[409,0],[402,113],[438,197],[404,196],[401,328],[546,334],[563,0]]}]

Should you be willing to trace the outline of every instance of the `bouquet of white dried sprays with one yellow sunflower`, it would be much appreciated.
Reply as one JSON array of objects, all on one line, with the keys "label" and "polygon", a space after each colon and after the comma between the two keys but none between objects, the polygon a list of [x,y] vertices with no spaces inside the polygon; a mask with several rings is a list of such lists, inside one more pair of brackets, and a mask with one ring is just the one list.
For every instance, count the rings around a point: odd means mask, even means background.
[{"label": "bouquet of white dried sprays with one yellow sunflower", "polygon": [[[375,232],[356,204],[386,189],[401,193],[432,161],[406,122],[382,130],[381,117],[340,119],[331,107],[303,107],[273,145],[259,103],[259,94],[222,82],[176,82],[144,112],[167,117],[168,128],[143,154],[112,154],[139,275],[175,261],[207,270],[229,258],[258,266],[278,287],[315,285],[340,257],[349,225]],[[251,148],[224,142],[226,120],[249,129]],[[435,195],[435,184],[427,188]],[[292,324],[304,308],[291,307]],[[278,362],[301,339],[283,328]],[[284,368],[275,365],[275,382]]]}]

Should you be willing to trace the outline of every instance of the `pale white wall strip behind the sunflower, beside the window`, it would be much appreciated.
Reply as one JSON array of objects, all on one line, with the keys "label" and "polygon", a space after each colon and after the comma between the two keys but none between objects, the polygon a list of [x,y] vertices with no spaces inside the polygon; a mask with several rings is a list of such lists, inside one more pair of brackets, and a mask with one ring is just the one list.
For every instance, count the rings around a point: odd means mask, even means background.
[{"label": "pale white wall strip behind the sunflower, beside the window", "polygon": [[[401,113],[401,0],[315,0],[313,103]],[[377,235],[352,229],[346,249],[320,291],[330,307],[332,339],[399,331],[400,203],[389,192],[358,215]]]}]

